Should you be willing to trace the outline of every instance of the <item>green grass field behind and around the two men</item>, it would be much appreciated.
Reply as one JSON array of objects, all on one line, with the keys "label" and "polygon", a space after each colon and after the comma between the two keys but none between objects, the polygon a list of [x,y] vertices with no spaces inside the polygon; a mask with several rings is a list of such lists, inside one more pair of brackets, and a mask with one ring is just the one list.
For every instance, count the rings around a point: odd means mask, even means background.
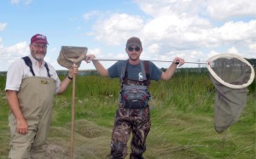
[{"label": "green grass field behind and around the two men", "polygon": [[[61,76],[63,78],[63,76]],[[0,76],[0,158],[9,153],[9,107]],[[48,158],[69,158],[72,86],[55,97]],[[178,72],[168,82],[151,82],[151,130],[145,158],[253,159],[256,152],[256,84],[248,87],[247,105],[224,133],[213,128],[215,88],[207,72]],[[74,153],[78,159],[104,158],[110,150],[119,79],[76,78]],[[129,146],[130,144],[128,144]]]}]

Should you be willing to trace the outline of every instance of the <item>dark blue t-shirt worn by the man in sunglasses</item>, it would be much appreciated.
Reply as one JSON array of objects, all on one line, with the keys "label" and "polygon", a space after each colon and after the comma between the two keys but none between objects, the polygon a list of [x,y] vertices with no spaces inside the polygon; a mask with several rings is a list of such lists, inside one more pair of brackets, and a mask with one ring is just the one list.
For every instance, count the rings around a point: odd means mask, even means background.
[{"label": "dark blue t-shirt worn by the man in sunglasses", "polygon": [[[127,60],[119,60],[115,64],[111,65],[108,68],[109,77],[120,77],[122,73],[123,65],[126,65]],[[131,65],[129,62],[127,64],[128,75],[127,78],[133,81],[140,81],[140,77],[142,76],[141,64]],[[162,71],[154,65],[154,63],[149,61],[149,75],[150,80],[158,81],[162,75]]]}]

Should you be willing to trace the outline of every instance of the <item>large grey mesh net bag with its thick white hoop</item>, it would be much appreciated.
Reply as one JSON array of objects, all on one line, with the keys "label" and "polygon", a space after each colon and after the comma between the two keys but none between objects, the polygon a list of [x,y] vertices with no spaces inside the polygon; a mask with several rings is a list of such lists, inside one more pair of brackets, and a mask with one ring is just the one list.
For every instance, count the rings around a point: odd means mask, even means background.
[{"label": "large grey mesh net bag with its thick white hoop", "polygon": [[236,122],[247,100],[247,86],[255,72],[247,60],[236,54],[218,54],[208,60],[207,70],[216,88],[214,128],[222,133]]}]

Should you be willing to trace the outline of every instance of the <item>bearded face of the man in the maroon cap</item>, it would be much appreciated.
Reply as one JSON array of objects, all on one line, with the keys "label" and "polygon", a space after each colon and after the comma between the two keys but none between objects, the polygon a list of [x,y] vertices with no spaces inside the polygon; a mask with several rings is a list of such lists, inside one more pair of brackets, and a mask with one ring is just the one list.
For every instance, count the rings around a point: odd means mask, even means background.
[{"label": "bearded face of the man in the maroon cap", "polygon": [[47,44],[46,43],[32,43],[30,44],[30,50],[32,57],[35,60],[41,61],[44,60],[44,57],[47,52]]}]

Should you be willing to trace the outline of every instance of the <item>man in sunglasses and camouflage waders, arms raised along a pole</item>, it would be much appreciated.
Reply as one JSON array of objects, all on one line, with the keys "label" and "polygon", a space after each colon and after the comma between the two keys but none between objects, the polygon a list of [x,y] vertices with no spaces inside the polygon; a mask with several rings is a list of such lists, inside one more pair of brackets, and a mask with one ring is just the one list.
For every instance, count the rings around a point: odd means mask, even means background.
[{"label": "man in sunglasses and camouflage waders, arms raised along a pole", "polygon": [[150,80],[169,80],[174,74],[177,65],[184,64],[184,60],[176,57],[172,65],[161,71],[154,63],[140,60],[143,45],[138,37],[127,40],[126,53],[128,60],[119,60],[108,69],[105,69],[95,55],[88,54],[87,63],[92,60],[96,70],[104,77],[119,77],[121,91],[119,107],[113,126],[110,158],[125,158],[127,155],[127,141],[132,133],[130,158],[143,158],[146,150],[146,138],[150,129],[150,114],[148,86]]}]

